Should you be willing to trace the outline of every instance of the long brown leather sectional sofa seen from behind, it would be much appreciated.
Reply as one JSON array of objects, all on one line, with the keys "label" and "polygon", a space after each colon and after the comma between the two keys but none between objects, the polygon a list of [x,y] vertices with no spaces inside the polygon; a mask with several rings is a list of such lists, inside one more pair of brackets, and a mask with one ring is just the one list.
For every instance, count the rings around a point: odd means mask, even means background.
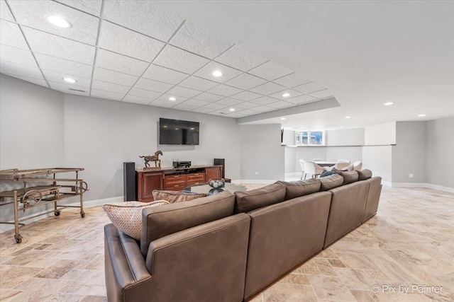
[{"label": "long brown leather sectional sofa seen from behind", "polygon": [[140,242],[105,226],[109,301],[243,301],[377,212],[368,170],[143,210]]}]

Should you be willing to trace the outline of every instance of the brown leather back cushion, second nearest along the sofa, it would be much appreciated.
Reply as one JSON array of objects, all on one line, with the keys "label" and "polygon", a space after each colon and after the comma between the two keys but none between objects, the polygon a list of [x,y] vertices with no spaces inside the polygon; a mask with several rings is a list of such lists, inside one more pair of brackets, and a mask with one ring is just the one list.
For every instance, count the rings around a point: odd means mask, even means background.
[{"label": "brown leather back cushion, second nearest along the sofa", "polygon": [[235,212],[243,213],[283,202],[285,199],[285,186],[279,183],[273,183],[251,191],[237,191]]}]

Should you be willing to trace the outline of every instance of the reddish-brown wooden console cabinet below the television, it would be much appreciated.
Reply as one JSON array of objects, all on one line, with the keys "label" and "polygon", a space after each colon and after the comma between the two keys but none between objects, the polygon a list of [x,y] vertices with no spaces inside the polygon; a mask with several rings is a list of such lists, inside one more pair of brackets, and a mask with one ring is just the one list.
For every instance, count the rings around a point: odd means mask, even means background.
[{"label": "reddish-brown wooden console cabinet below the television", "polygon": [[[135,169],[137,200],[153,202],[153,190],[181,191],[189,185],[221,178],[221,165],[196,165],[189,168]],[[125,180],[126,181],[126,180]]]}]

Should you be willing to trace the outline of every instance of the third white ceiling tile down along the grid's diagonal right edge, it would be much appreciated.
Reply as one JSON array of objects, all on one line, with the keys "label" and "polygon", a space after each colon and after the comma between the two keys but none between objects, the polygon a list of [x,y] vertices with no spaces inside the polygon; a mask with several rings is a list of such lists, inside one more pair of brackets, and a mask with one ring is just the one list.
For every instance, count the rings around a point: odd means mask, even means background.
[{"label": "third white ceiling tile down along the grid's diagonal right edge", "polygon": [[245,48],[239,45],[234,45],[231,49],[217,57],[215,61],[242,71],[248,71],[268,60],[245,50]]}]

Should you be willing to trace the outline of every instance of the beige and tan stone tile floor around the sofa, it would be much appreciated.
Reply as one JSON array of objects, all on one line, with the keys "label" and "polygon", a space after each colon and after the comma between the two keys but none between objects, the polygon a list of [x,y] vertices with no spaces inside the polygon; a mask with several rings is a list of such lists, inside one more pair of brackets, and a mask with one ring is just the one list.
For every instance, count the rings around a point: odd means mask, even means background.
[{"label": "beige and tan stone tile floor around the sofa", "polygon": [[[106,301],[109,219],[86,211],[24,226],[21,244],[0,234],[1,301]],[[454,301],[453,260],[454,194],[384,187],[377,216],[253,301]]]}]

